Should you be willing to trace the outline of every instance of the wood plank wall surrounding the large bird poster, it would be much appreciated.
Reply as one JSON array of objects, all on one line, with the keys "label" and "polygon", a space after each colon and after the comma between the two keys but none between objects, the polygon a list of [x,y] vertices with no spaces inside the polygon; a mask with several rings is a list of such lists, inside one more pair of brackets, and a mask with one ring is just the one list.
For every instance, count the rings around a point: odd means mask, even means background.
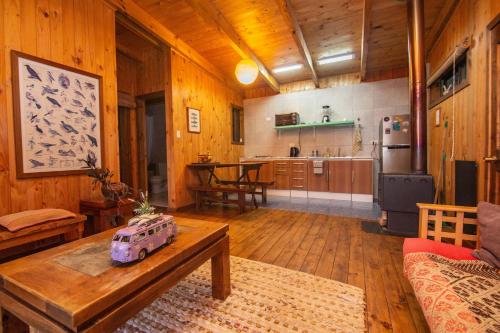
[{"label": "wood plank wall surrounding the large bird poster", "polygon": [[114,10],[103,0],[0,1],[0,215],[42,207],[77,211],[80,198],[94,195],[88,177],[16,179],[11,50],[103,76],[104,165],[118,175]]}]

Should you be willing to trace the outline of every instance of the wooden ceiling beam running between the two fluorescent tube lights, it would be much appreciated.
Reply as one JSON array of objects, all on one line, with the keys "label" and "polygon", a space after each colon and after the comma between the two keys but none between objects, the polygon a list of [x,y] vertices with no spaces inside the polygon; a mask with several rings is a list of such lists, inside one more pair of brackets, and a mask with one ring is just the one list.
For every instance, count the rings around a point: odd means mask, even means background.
[{"label": "wooden ceiling beam running between the two fluorescent tube lights", "polygon": [[319,88],[318,75],[316,74],[316,69],[314,68],[311,52],[307,47],[304,34],[302,33],[302,29],[300,28],[299,21],[297,20],[297,17],[293,11],[290,0],[276,0],[276,3],[278,4],[278,8],[281,12],[281,15],[285,19],[290,32],[292,33],[295,44],[297,44],[297,48],[299,49],[304,62],[311,72],[311,79],[313,80],[314,85],[316,86],[316,88]]}]

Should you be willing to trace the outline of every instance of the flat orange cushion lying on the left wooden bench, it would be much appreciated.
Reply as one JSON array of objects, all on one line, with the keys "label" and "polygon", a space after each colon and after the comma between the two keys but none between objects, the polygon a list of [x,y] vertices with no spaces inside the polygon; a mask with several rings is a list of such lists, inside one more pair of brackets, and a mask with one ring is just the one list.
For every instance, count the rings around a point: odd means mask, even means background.
[{"label": "flat orange cushion lying on the left wooden bench", "polygon": [[64,209],[44,208],[25,210],[23,212],[0,217],[0,226],[6,228],[10,232],[14,232],[37,224],[71,217],[76,217],[76,214]]}]

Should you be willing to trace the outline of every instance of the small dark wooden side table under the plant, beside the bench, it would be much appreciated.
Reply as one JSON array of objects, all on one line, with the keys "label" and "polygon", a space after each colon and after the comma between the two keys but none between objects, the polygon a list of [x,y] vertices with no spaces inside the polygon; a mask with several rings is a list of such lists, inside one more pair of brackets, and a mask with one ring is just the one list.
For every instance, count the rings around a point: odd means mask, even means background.
[{"label": "small dark wooden side table under the plant, beside the bench", "polygon": [[80,214],[87,215],[84,236],[90,236],[124,224],[134,215],[135,201],[123,199],[80,200]]}]

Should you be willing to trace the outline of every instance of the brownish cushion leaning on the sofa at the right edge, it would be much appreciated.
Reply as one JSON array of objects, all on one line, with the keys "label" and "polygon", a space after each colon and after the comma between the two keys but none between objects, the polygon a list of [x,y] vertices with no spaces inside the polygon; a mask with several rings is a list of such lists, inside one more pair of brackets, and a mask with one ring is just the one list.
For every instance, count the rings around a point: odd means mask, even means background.
[{"label": "brownish cushion leaning on the sofa at the right edge", "polygon": [[481,247],[473,255],[488,264],[500,267],[500,205],[480,202],[477,205]]}]

